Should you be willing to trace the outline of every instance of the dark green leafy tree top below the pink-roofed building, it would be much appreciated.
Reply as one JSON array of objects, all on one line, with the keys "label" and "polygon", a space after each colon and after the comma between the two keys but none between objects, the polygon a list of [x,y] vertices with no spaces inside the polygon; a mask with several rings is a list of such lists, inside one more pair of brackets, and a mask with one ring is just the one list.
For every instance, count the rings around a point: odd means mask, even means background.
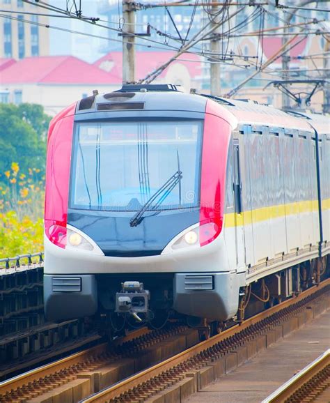
[{"label": "dark green leafy tree top below the pink-roofed building", "polygon": [[18,162],[22,172],[29,168],[45,172],[45,138],[50,119],[40,105],[0,104],[1,173],[13,162]]}]

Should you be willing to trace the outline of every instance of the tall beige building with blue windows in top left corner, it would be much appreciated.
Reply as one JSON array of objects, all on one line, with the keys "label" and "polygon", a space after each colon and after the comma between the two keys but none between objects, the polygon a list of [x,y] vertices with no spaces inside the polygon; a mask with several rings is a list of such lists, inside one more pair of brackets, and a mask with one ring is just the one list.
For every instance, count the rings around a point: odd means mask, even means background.
[{"label": "tall beige building with blue windows in top left corner", "polygon": [[[47,24],[45,15],[33,4],[22,0],[0,0],[0,58],[24,59],[29,56],[49,54],[48,29],[38,26]],[[42,13],[47,14],[47,10]]]}]

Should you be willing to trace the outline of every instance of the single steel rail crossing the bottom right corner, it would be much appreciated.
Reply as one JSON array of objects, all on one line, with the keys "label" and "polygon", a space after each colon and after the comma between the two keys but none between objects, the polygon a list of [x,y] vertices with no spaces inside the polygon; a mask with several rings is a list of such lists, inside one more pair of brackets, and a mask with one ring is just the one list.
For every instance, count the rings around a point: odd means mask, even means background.
[{"label": "single steel rail crossing the bottom right corner", "polygon": [[261,403],[281,403],[290,399],[294,393],[330,365],[330,349],[324,351],[321,356],[316,358],[313,363],[308,364],[303,370],[299,371],[287,382],[283,383],[272,395],[266,397]]}]

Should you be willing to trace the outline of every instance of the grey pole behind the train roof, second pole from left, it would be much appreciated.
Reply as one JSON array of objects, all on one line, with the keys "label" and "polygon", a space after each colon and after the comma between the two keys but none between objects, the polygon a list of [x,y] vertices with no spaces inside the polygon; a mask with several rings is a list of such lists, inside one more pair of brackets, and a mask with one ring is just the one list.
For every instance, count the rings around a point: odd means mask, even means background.
[{"label": "grey pole behind the train roof, second pole from left", "polygon": [[[213,38],[210,43],[210,50],[216,55],[214,59],[218,59],[220,55],[220,42],[219,42],[219,6],[212,6],[213,20],[211,26],[218,26],[213,32]],[[211,63],[210,67],[210,91],[211,95],[220,96],[220,63]]]}]

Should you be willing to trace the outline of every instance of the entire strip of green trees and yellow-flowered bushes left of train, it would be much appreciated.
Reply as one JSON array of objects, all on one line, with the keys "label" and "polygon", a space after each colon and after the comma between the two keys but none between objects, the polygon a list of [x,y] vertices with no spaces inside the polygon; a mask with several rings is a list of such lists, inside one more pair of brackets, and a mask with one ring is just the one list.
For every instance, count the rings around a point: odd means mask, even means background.
[{"label": "entire strip of green trees and yellow-flowered bushes left of train", "polygon": [[43,250],[50,119],[40,105],[0,103],[0,257]]}]

